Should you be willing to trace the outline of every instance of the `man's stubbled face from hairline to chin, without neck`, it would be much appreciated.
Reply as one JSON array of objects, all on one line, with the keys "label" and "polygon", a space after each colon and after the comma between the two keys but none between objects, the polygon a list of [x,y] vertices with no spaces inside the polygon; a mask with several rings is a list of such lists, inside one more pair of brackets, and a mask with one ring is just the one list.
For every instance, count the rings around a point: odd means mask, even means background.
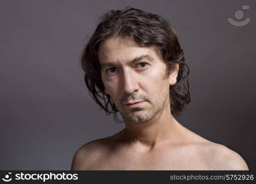
[{"label": "man's stubbled face from hairline to chin, without neck", "polygon": [[111,37],[101,44],[98,56],[105,93],[125,121],[144,123],[169,110],[169,85],[176,77],[166,75],[166,64],[155,47]]}]

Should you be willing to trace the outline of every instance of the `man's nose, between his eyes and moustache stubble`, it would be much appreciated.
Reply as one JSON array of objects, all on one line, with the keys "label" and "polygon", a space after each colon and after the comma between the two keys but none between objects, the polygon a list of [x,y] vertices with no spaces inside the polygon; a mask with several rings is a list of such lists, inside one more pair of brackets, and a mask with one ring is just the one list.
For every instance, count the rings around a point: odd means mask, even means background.
[{"label": "man's nose, between his eyes and moustache stubble", "polygon": [[130,71],[129,69],[123,71],[122,83],[124,93],[131,94],[139,89],[138,79],[133,71]]}]

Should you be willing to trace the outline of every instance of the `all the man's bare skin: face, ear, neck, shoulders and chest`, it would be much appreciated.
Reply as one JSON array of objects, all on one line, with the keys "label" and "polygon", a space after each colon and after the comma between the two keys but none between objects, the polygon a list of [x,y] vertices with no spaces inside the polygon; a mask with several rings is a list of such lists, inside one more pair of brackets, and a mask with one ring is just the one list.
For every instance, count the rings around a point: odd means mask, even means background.
[{"label": "all the man's bare skin: face, ear, neck, shoulders and chest", "polygon": [[[141,56],[147,57],[130,62]],[[72,170],[248,170],[238,153],[198,136],[171,114],[169,85],[177,82],[178,64],[166,77],[155,48],[120,37],[101,44],[99,61],[105,92],[126,128],[80,147]]]}]

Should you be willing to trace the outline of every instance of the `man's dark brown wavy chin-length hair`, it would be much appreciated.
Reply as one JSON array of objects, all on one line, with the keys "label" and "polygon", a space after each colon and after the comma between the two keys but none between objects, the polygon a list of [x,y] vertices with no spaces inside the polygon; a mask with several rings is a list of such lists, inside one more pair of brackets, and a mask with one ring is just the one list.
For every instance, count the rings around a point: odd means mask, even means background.
[{"label": "man's dark brown wavy chin-length hair", "polygon": [[169,94],[171,113],[174,116],[180,115],[185,105],[190,102],[190,92],[189,69],[185,63],[177,34],[168,20],[160,15],[131,7],[124,10],[109,10],[105,13],[87,45],[83,48],[81,64],[85,71],[84,80],[95,102],[105,110],[107,115],[114,113],[115,121],[118,121],[117,107],[109,94],[104,93],[98,59],[100,44],[113,36],[128,36],[142,47],[155,46],[168,66],[167,74],[171,73],[173,63],[179,64],[177,83],[169,86]]}]

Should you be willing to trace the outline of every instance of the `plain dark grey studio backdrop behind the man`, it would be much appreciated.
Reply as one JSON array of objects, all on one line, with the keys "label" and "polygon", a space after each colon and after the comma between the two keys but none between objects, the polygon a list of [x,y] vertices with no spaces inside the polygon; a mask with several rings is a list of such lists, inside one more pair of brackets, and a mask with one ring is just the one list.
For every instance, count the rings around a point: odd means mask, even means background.
[{"label": "plain dark grey studio backdrop behind the man", "polygon": [[[90,98],[79,59],[99,15],[126,6],[158,13],[176,28],[192,95],[178,121],[256,170],[254,0],[1,0],[0,169],[68,170],[77,148],[125,127]],[[233,26],[228,18],[250,22]]]}]

